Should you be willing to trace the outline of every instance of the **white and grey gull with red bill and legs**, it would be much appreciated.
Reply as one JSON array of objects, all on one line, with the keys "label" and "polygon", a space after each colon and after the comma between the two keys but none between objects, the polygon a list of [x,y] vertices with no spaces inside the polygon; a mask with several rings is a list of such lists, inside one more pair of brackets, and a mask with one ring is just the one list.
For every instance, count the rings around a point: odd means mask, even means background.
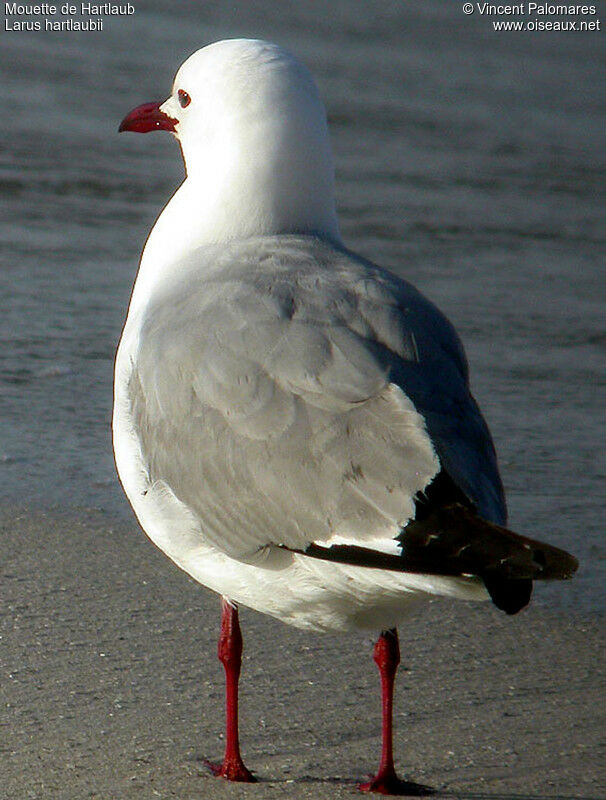
[{"label": "white and grey gull with red bill and legs", "polygon": [[238,736],[238,605],[332,633],[374,630],[378,772],[407,794],[392,706],[397,626],[433,596],[508,614],[568,553],[509,531],[461,342],[410,283],[341,240],[326,114],[264,41],[195,52],[121,131],[171,132],[186,178],[141,256],[115,367],[113,441],[150,539],[221,597],[226,748]]}]

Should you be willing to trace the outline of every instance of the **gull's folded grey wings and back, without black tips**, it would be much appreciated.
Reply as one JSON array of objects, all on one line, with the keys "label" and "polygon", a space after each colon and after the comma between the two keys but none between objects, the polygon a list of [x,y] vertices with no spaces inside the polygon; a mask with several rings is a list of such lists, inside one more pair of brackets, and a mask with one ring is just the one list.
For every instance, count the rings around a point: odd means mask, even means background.
[{"label": "gull's folded grey wings and back, without black tips", "polygon": [[328,245],[261,255],[148,309],[129,391],[150,482],[240,559],[392,540],[443,467],[481,506],[492,444],[439,312]]}]

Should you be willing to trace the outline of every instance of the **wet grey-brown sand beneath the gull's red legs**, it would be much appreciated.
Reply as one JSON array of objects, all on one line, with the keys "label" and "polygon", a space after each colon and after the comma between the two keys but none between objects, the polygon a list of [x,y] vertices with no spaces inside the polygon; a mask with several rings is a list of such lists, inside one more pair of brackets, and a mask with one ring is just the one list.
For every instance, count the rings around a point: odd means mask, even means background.
[{"label": "wet grey-brown sand beneath the gull's red legs", "polygon": [[[229,785],[203,763],[222,755],[217,598],[134,521],[0,520],[0,797],[358,796],[380,746],[370,637],[242,611],[241,736],[259,783]],[[602,616],[438,601],[400,641],[395,752],[411,780],[474,800],[606,795]]]}]

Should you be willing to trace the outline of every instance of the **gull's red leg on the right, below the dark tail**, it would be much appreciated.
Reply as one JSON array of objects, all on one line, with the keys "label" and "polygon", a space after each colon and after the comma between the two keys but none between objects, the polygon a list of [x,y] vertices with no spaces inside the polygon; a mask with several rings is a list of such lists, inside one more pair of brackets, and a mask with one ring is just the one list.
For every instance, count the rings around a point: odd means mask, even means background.
[{"label": "gull's red leg on the right, below the dark tail", "polygon": [[433,793],[429,787],[403,781],[396,775],[393,763],[393,685],[400,663],[398,632],[395,628],[377,639],[373,657],[381,673],[382,748],[381,763],[376,776],[360,785],[363,792],[378,792],[392,795],[423,795]]}]

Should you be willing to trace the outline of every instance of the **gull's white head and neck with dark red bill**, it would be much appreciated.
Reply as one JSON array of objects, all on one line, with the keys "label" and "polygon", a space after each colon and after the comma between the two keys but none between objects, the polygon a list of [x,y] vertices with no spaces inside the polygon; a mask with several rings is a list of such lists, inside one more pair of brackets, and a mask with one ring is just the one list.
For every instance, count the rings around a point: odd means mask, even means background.
[{"label": "gull's white head and neck with dark red bill", "polygon": [[324,107],[308,70],[277,45],[232,39],[198,50],[171,96],[135,109],[121,129],[174,133],[187,172],[182,190],[199,203],[205,241],[279,233],[339,240]]}]

